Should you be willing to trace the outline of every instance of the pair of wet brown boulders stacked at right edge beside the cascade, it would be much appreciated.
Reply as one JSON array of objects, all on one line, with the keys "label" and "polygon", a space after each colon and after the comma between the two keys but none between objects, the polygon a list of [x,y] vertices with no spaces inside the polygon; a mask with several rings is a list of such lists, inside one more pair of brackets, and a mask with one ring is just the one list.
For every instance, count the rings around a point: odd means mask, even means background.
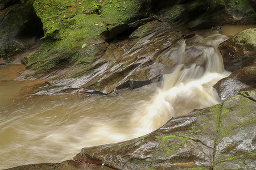
[{"label": "pair of wet brown boulders stacked at right edge beside the cascade", "polygon": [[234,71],[218,81],[214,88],[221,100],[237,95],[239,91],[256,88],[256,29],[246,29],[222,42],[219,46],[224,67]]}]

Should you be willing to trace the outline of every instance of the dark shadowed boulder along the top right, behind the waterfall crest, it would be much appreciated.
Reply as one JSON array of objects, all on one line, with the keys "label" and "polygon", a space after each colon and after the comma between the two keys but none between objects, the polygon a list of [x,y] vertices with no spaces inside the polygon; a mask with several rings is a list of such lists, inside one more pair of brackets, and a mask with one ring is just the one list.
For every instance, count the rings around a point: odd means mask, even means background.
[{"label": "dark shadowed boulder along the top right, behind the waterfall crest", "polygon": [[[214,1],[150,1],[157,18],[169,23],[185,23],[196,30],[216,25],[254,24],[254,2],[237,0]],[[184,26],[183,26],[184,27]]]}]

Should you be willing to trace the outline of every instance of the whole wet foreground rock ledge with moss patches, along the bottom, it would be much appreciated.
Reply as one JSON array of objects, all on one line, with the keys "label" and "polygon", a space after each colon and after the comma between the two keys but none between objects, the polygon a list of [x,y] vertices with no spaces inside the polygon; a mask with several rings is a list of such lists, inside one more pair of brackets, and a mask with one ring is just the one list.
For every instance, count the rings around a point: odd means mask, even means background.
[{"label": "whole wet foreground rock ledge with moss patches, along the bottom", "polygon": [[82,148],[63,163],[16,169],[254,169],[255,96],[255,90],[243,91],[222,104],[171,118],[141,138]]}]

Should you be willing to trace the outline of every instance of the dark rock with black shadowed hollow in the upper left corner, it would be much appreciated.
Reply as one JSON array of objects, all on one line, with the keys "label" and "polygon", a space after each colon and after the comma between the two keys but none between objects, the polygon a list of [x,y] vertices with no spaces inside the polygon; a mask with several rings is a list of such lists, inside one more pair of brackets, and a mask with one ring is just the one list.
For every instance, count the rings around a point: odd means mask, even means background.
[{"label": "dark rock with black shadowed hollow in the upper left corner", "polygon": [[42,23],[32,1],[0,11],[0,58],[13,61],[15,55],[36,46],[42,36]]}]

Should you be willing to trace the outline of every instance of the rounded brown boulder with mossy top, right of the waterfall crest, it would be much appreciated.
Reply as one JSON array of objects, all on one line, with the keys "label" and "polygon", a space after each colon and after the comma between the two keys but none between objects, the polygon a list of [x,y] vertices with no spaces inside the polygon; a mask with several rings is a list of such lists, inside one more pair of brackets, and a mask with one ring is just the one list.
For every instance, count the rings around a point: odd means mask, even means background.
[{"label": "rounded brown boulder with mossy top, right of the waterfall crest", "polygon": [[256,63],[256,28],[246,29],[219,46],[224,67],[236,71]]}]

